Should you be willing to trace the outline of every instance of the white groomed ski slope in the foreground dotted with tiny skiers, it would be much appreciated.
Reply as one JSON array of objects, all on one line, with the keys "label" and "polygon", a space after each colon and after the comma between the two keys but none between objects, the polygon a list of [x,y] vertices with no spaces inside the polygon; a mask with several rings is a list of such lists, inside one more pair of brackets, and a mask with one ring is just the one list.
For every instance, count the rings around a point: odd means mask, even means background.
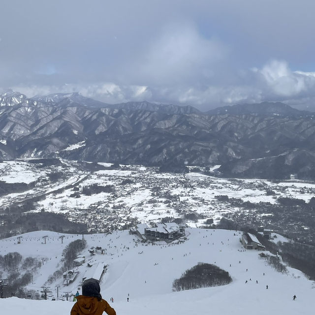
[{"label": "white groomed ski slope in the foreground dotted with tiny skiers", "polygon": [[[108,264],[100,286],[101,294],[118,315],[303,315],[313,314],[315,307],[314,283],[300,271],[288,268],[287,274],[266,265],[257,251],[245,251],[239,242],[241,232],[187,228],[188,240],[182,244],[146,245],[135,243],[136,237],[128,231],[113,234],[84,235],[88,242],[82,252],[84,265],[77,267],[79,275],[73,284],[62,287],[62,279],[50,286],[60,291],[75,293],[79,281],[89,268],[87,263]],[[43,244],[43,236],[46,244]],[[30,289],[39,289],[56,269],[61,253],[69,242],[82,235],[37,231],[23,234],[21,244],[17,237],[0,241],[0,254],[20,252],[23,256],[44,258],[44,265],[34,274]],[[99,246],[106,254],[90,256],[88,249]],[[172,282],[198,262],[216,264],[228,271],[233,282],[228,285],[172,291]],[[248,271],[247,271],[248,270]],[[248,283],[245,283],[248,281]],[[256,283],[256,281],[258,283]],[[268,285],[268,289],[266,289]],[[129,294],[129,302],[127,297]],[[293,295],[297,296],[295,301]],[[114,303],[110,298],[114,298]],[[72,299],[71,299],[72,300]],[[10,315],[64,315],[70,314],[74,302],[28,300],[11,297],[0,299],[1,314]]]}]

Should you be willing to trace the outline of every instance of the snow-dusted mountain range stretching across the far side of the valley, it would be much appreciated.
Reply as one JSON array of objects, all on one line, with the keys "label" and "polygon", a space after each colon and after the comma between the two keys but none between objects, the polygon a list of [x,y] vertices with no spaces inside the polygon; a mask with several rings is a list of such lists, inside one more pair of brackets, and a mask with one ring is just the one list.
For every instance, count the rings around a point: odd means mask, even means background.
[{"label": "snow-dusted mountain range stretching across the far side of the valley", "polygon": [[[109,105],[78,93],[27,98],[11,91],[0,101],[2,159],[222,164],[222,176],[265,178],[272,167],[282,167],[282,178],[315,178],[313,113],[279,102],[203,113],[146,101]],[[284,153],[290,158],[272,158]]]}]

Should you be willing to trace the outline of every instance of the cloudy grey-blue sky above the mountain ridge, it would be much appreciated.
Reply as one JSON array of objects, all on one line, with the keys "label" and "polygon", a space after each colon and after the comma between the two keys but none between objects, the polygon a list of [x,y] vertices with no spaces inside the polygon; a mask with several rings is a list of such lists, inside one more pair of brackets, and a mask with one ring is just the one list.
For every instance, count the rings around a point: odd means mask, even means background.
[{"label": "cloudy grey-blue sky above the mountain ridge", "polygon": [[0,89],[315,110],[314,13],[314,0],[6,0]]}]

